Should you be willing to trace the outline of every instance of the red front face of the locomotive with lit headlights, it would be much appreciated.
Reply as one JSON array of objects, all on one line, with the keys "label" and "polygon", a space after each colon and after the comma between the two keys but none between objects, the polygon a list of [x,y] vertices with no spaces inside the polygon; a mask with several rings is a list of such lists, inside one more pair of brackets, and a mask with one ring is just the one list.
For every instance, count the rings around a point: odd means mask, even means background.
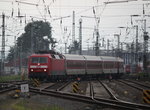
[{"label": "red front face of the locomotive with lit headlights", "polygon": [[50,65],[48,55],[32,55],[28,63],[29,78],[47,78],[49,75]]}]

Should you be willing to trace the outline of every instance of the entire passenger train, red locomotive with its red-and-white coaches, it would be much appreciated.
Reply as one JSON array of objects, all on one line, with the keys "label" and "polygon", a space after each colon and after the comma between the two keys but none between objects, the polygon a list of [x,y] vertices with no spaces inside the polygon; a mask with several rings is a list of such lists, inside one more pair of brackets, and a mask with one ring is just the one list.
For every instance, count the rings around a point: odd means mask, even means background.
[{"label": "entire passenger train, red locomotive with its red-and-white coaches", "polygon": [[40,52],[29,57],[29,78],[81,79],[119,77],[123,73],[123,60],[118,57],[87,56]]}]

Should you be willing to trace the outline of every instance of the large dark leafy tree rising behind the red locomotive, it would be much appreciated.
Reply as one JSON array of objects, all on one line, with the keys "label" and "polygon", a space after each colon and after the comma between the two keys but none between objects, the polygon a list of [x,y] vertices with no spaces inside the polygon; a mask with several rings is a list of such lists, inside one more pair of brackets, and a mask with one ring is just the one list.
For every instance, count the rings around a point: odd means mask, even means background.
[{"label": "large dark leafy tree rising behind the red locomotive", "polygon": [[16,57],[27,57],[31,53],[39,50],[49,50],[49,44],[55,47],[56,41],[52,38],[51,25],[49,22],[33,21],[28,23],[20,37],[17,39],[16,47],[10,49],[7,59],[13,60],[14,51]]}]

